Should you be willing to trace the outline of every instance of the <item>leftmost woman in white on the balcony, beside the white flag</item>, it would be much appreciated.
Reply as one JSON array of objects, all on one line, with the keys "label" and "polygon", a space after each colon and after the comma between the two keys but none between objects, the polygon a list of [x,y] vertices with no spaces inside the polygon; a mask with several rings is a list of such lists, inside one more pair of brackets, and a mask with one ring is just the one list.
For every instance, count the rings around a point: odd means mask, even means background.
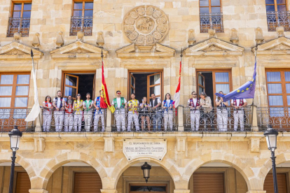
[{"label": "leftmost woman in white on the balcony, beside the white flag", "polygon": [[43,132],[49,132],[51,118],[53,117],[53,103],[50,96],[46,96],[46,101],[43,101]]}]

